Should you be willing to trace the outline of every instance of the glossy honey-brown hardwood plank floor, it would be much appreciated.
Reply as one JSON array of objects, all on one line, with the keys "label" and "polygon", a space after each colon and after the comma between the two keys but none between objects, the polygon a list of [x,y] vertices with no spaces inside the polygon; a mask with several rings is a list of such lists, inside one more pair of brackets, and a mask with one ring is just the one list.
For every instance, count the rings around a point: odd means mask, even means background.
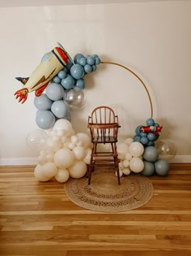
[{"label": "glossy honey-brown hardwood plank floor", "polygon": [[34,167],[0,167],[0,255],[191,255],[191,163],[150,178],[151,201],[124,213],[75,206]]}]

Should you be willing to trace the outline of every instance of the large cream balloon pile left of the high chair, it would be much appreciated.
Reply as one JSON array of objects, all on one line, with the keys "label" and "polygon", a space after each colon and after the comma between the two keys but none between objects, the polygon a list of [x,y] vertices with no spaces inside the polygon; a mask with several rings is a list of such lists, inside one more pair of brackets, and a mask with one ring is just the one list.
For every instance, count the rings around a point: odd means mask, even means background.
[{"label": "large cream balloon pile left of the high chair", "polygon": [[[32,132],[32,134],[40,139],[39,132],[36,134]],[[44,133],[41,138],[45,142]],[[29,136],[28,144],[31,142],[32,146],[36,145],[33,141],[37,141],[36,137],[32,139],[32,136]],[[86,174],[87,164],[90,163],[91,158],[91,141],[86,133],[75,134],[70,121],[57,120],[44,144],[44,150],[40,150],[38,164],[34,171],[37,180],[48,181],[54,177],[62,183],[69,177],[81,178]]]}]

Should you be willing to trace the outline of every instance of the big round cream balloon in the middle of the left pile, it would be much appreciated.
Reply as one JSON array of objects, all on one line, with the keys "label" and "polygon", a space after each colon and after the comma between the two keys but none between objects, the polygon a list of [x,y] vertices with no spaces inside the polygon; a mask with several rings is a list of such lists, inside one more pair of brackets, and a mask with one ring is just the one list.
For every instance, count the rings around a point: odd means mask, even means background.
[{"label": "big round cream balloon in the middle of the left pile", "polygon": [[60,149],[54,154],[53,162],[58,168],[68,168],[74,164],[75,155],[69,149]]}]

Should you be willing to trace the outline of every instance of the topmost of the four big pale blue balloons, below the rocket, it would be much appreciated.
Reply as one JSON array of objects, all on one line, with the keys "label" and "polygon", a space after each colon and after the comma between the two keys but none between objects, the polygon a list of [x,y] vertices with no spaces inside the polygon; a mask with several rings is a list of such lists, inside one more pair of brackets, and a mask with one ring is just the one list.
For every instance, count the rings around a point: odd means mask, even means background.
[{"label": "topmost of the four big pale blue balloons, below the rocket", "polygon": [[63,98],[64,89],[60,84],[50,83],[46,88],[46,95],[52,101],[58,101]]}]

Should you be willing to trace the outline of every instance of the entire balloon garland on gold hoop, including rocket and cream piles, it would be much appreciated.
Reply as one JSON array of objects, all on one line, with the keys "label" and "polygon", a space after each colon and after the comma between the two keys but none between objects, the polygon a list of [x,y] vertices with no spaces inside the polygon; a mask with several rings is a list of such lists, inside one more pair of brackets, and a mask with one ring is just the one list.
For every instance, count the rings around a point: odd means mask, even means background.
[{"label": "entire balloon garland on gold hoop, including rocket and cream piles", "polygon": [[[131,72],[146,90],[151,106],[151,118],[146,120],[146,126],[139,125],[134,139],[127,138],[117,145],[121,176],[129,175],[131,171],[145,176],[154,173],[168,175],[168,161],[159,158],[160,149],[155,147],[162,127],[152,119],[151,96],[142,79],[120,63],[101,61],[97,54],[75,54],[73,60],[64,47],[57,44],[58,47],[43,56],[30,77],[16,77],[23,84],[23,89],[15,92],[19,102],[23,104],[32,91],[36,95],[36,124],[40,129],[27,137],[29,147],[40,154],[34,171],[36,179],[47,181],[55,177],[58,182],[66,182],[70,176],[80,178],[85,175],[90,163],[91,141],[83,132],[75,134],[70,124],[70,109],[84,106],[83,77],[96,72],[100,63],[116,65]],[[49,129],[51,131],[47,132]]]}]

